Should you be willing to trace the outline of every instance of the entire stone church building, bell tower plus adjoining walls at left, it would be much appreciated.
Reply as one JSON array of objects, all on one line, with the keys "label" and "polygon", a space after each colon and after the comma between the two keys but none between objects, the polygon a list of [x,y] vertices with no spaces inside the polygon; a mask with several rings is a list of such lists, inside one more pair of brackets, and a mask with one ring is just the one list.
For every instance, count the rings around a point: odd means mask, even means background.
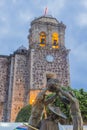
[{"label": "entire stone church building, bell tower plus adjoining walls at left", "polygon": [[34,101],[48,79],[57,78],[62,86],[70,85],[65,28],[51,16],[34,19],[29,49],[22,46],[10,56],[0,56],[0,121],[15,121],[20,109]]}]

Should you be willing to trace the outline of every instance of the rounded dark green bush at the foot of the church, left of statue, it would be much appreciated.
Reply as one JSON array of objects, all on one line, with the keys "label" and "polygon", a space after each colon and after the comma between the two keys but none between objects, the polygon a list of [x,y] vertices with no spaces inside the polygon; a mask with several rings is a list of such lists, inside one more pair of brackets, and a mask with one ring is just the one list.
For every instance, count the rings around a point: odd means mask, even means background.
[{"label": "rounded dark green bush at the foot of the church, left of statue", "polygon": [[15,122],[28,122],[30,114],[31,114],[31,105],[27,105],[19,111]]}]

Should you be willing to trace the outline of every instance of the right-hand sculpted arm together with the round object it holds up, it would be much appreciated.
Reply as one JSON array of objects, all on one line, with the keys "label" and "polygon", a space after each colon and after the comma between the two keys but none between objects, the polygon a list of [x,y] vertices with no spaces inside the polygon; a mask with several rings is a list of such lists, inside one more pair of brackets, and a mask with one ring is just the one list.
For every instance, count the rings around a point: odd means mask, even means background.
[{"label": "right-hand sculpted arm together with the round object it holds up", "polygon": [[73,93],[62,90],[60,83],[57,79],[49,80],[47,87],[49,88],[49,91],[56,92],[58,96],[65,96],[68,99],[66,103],[69,104],[70,102],[70,112],[73,120],[73,130],[83,130],[83,120],[79,109],[79,101],[76,99]]}]

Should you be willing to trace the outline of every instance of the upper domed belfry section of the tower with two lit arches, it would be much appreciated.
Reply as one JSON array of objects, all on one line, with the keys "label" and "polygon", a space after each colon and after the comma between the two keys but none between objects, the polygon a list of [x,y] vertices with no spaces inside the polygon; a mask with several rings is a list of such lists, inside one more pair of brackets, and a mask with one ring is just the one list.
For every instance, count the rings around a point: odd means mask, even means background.
[{"label": "upper domed belfry section of the tower with two lit arches", "polygon": [[52,16],[41,16],[31,22],[29,46],[56,48],[65,46],[66,26]]}]

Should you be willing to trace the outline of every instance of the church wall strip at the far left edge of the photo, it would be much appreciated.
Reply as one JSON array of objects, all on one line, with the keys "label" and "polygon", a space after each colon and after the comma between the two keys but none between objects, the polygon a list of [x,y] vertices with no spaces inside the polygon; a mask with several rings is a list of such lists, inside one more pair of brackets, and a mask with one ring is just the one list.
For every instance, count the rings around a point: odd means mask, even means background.
[{"label": "church wall strip at the far left edge of the photo", "polygon": [[0,56],[0,121],[5,120],[8,90],[9,59],[7,56]]}]

